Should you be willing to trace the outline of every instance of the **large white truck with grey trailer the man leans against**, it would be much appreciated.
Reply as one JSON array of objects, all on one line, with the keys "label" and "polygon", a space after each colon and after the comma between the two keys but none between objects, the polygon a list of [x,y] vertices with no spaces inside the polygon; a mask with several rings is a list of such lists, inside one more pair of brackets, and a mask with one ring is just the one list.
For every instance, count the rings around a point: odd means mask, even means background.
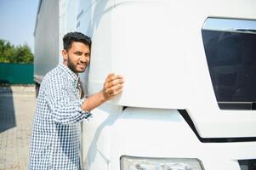
[{"label": "large white truck with grey trailer the man leans against", "polygon": [[42,0],[35,81],[62,37],[92,37],[88,94],[110,72],[122,95],[82,125],[86,170],[256,169],[255,0]]}]

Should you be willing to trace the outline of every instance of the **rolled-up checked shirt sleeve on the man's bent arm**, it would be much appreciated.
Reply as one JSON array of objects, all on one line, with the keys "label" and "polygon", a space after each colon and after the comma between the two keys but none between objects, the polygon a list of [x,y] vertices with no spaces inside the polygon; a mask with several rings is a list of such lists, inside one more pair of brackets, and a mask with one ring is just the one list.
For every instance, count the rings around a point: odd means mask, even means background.
[{"label": "rolled-up checked shirt sleeve on the man's bent arm", "polygon": [[92,116],[89,111],[82,111],[82,103],[86,99],[71,98],[67,80],[58,76],[48,77],[46,83],[46,99],[54,122],[69,124]]}]

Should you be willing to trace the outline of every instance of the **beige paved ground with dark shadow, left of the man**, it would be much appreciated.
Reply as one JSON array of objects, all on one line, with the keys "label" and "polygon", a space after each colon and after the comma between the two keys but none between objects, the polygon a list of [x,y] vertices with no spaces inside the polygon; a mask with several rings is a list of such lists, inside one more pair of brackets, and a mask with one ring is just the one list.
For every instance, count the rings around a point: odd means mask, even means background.
[{"label": "beige paved ground with dark shadow, left of the man", "polygon": [[0,170],[25,170],[31,122],[36,105],[34,87],[0,87]]}]

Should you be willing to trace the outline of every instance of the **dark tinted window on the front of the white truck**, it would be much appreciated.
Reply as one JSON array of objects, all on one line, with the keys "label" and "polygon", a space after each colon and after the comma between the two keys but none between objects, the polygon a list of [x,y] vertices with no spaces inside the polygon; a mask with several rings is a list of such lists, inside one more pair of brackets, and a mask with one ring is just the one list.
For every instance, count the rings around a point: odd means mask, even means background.
[{"label": "dark tinted window on the front of the white truck", "polygon": [[220,109],[256,109],[256,20],[208,18],[202,40]]}]

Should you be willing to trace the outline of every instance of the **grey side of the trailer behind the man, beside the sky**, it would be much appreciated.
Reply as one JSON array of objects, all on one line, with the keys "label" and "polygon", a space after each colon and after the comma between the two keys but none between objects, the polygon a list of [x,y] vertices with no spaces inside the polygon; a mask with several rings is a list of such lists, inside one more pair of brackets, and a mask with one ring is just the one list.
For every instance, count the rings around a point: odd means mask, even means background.
[{"label": "grey side of the trailer behind the man, beside the sky", "polygon": [[[58,0],[42,1],[35,28],[35,77],[44,75],[58,64],[59,4]],[[42,81],[42,80],[41,80]]]}]

